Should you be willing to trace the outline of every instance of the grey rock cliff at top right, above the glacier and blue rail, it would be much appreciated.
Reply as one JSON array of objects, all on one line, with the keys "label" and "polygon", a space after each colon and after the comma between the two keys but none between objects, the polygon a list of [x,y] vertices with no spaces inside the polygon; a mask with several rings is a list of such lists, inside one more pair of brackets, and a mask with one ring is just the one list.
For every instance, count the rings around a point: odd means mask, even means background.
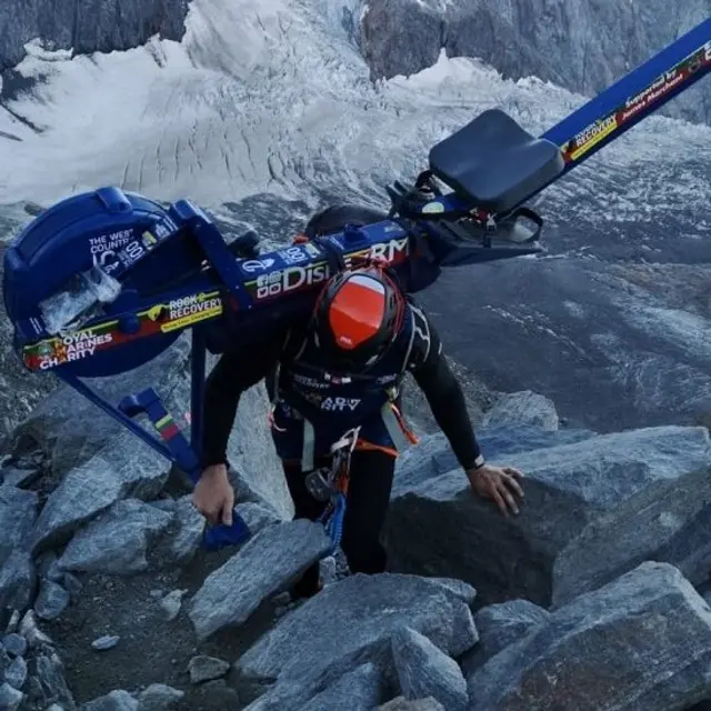
[{"label": "grey rock cliff at top right, above the glacier and blue rail", "polygon": [[[593,96],[709,16],[709,0],[368,0],[358,42],[374,78],[415,73],[444,48]],[[695,87],[667,113],[710,122],[711,96]]]}]

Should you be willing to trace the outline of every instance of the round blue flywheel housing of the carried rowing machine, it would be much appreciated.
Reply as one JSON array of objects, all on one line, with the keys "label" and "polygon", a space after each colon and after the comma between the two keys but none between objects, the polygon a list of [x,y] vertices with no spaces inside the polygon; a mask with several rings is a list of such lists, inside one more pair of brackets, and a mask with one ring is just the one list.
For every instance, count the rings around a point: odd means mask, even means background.
[{"label": "round blue flywheel housing of the carried rowing machine", "polygon": [[[194,216],[181,214],[176,206],[166,210],[118,188],[74,196],[41,213],[4,253],[3,298],[14,326],[16,350],[21,352],[26,343],[52,336],[58,348],[71,348],[71,342],[62,341],[76,337],[62,332],[77,326],[61,323],[62,310],[81,299],[82,289],[106,291],[107,284],[99,283],[102,279],[113,284],[114,293],[94,309],[98,306],[102,314],[116,314],[120,338],[131,340],[139,303],[201,268],[204,256],[191,238],[190,217]],[[94,283],[88,283],[92,280]],[[79,378],[126,372],[156,358],[179,336],[180,331],[157,332],[129,349],[68,360],[61,369]],[[90,348],[91,339],[101,334],[84,338]]]}]

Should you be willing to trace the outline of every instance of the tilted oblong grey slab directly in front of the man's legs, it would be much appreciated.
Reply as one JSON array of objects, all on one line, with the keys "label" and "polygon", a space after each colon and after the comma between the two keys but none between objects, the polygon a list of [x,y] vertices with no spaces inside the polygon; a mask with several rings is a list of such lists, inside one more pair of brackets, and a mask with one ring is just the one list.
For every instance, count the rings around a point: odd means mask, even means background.
[{"label": "tilted oblong grey slab directly in front of the man's legs", "polygon": [[331,541],[320,523],[306,519],[257,533],[196,593],[189,617],[200,640],[243,623],[269,597],[323,557]]}]

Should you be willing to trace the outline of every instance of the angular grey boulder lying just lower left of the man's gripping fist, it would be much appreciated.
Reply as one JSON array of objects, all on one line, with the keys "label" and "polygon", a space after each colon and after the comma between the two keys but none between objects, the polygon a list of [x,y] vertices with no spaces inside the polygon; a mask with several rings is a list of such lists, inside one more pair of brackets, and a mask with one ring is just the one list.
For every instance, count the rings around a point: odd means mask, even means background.
[{"label": "angular grey boulder lying just lower left of the man's gripping fist", "polygon": [[58,565],[64,571],[120,575],[144,571],[151,542],[172,518],[142,501],[118,501],[74,535]]}]

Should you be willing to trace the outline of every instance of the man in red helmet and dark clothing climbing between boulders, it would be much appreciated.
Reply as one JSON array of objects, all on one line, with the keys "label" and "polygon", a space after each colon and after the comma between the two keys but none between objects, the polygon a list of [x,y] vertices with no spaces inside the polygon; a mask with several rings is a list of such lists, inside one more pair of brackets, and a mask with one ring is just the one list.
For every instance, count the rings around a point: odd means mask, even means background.
[{"label": "man in red helmet and dark clothing climbing between boulders", "polygon": [[[331,208],[316,216],[308,237],[382,219],[368,210]],[[412,441],[400,412],[400,387],[410,372],[447,435],[473,491],[500,511],[518,513],[522,474],[484,461],[464,395],[440,339],[420,308],[377,264],[337,273],[310,317],[236,344],[208,378],[204,470],[193,502],[211,523],[231,523],[234,492],[227,443],[240,395],[267,379],[271,433],[283,462],[294,518],[317,520],[328,503],[329,470],[340,462],[347,488],[341,548],[352,572],[385,570],[380,542],[398,451]],[[344,469],[344,471],[343,471]],[[318,565],[292,589],[319,590]]]}]

